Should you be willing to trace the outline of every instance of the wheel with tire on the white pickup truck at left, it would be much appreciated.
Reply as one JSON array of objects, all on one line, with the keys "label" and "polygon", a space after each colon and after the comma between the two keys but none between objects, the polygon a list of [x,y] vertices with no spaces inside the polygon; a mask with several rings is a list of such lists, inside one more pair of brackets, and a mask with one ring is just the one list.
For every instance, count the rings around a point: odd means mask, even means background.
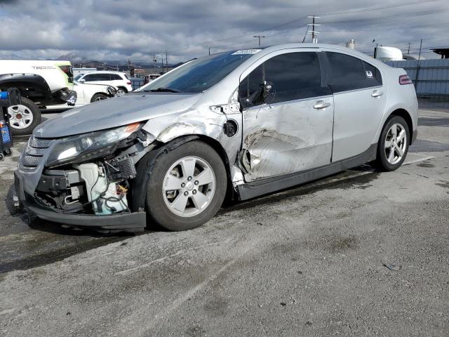
[{"label": "wheel with tire on the white pickup truck at left", "polygon": [[22,97],[21,105],[8,107],[9,125],[13,136],[25,136],[41,124],[41,110],[29,98]]}]

